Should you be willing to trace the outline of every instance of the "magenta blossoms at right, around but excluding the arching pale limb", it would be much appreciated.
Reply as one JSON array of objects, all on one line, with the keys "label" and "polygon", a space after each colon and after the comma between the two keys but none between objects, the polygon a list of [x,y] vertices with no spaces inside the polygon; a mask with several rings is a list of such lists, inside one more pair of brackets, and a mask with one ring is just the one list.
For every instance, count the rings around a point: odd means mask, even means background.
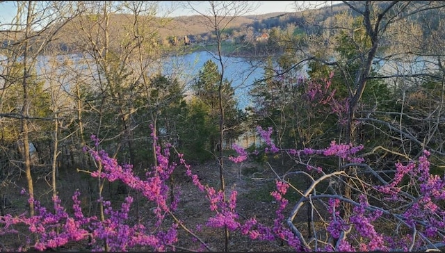
[{"label": "magenta blossoms at right, around but excluding the arching pale limb", "polygon": [[[261,137],[266,138],[266,143],[272,144],[270,134],[272,130],[261,131]],[[284,149],[293,156],[337,156],[349,163],[363,163],[364,159],[357,156],[358,152],[364,148],[363,145],[353,146],[346,144],[337,144],[334,140],[330,146],[325,149],[305,148],[302,150]],[[336,245],[327,245],[318,247],[318,250],[325,251],[388,251],[391,249],[407,250],[413,248],[425,248],[430,242],[436,242],[438,245],[445,245],[443,234],[445,233],[445,210],[443,203],[445,199],[445,179],[439,175],[430,174],[430,162],[428,161],[430,152],[423,151],[423,155],[418,161],[409,161],[406,165],[399,162],[395,164],[396,174],[393,179],[382,186],[371,186],[369,190],[378,190],[379,193],[387,195],[387,201],[401,202],[404,208],[387,209],[370,206],[367,202],[367,196],[359,195],[359,202],[355,202],[353,213],[346,218],[341,217],[339,205],[342,197],[329,199],[327,211],[331,214],[330,221],[327,224],[327,232],[332,238],[338,239]],[[320,166],[307,164],[307,170],[317,170],[321,175],[323,169]],[[403,181],[407,175],[409,181]],[[406,192],[406,188],[418,193],[414,197]],[[280,188],[277,185],[277,188]],[[366,192],[365,192],[366,193]],[[282,196],[276,192],[273,196],[277,201],[282,201]],[[383,200],[383,199],[382,199]],[[285,203],[285,202],[282,202]],[[385,214],[385,215],[384,215]],[[277,213],[277,219],[282,218]],[[396,237],[387,236],[378,231],[375,222],[380,220],[394,220],[402,222],[408,229],[416,228],[416,233],[421,235],[422,240],[416,239],[410,235],[400,235]],[[442,240],[437,238],[441,238]],[[359,243],[357,243],[359,242]],[[430,243],[430,244],[428,244]]]}]

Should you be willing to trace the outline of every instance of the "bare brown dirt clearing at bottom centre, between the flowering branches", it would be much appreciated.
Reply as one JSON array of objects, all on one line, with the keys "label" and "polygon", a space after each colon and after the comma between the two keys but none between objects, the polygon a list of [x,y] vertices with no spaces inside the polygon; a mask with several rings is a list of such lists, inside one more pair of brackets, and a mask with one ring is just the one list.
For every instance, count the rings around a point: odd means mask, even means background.
[{"label": "bare brown dirt clearing at bottom centre, between the flowering branches", "polygon": [[[255,217],[263,224],[272,225],[275,218],[277,204],[273,198],[268,196],[268,189],[274,185],[274,173],[266,165],[259,165],[254,161],[233,163],[224,160],[224,177],[227,196],[232,190],[238,192],[236,211],[243,222],[245,218]],[[216,189],[220,188],[220,172],[216,162],[192,167],[192,171],[198,175],[203,184],[209,184]],[[179,184],[181,192],[184,193],[179,206],[179,215],[188,217],[187,221],[191,227],[195,224],[205,224],[212,215],[209,209],[209,201],[205,195],[193,185],[191,181],[184,180]],[[275,189],[272,189],[275,190]],[[204,227],[204,226],[203,226]],[[203,229],[200,233],[202,239],[209,243],[212,250],[224,251],[225,239],[223,229]],[[178,246],[193,249],[186,241],[179,240]],[[290,247],[281,245],[280,241],[264,242],[251,240],[248,236],[239,233],[230,235],[230,252],[282,252],[292,251]]]}]

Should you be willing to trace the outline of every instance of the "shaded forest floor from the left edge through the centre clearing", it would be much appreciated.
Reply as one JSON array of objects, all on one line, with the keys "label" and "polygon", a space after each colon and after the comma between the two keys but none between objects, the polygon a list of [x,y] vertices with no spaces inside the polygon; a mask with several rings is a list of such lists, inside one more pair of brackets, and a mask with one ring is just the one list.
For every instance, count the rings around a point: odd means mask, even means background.
[{"label": "shaded forest floor from the left edge through the centre clearing", "polygon": [[[280,168],[280,166],[277,166]],[[255,161],[244,161],[243,163],[233,163],[228,158],[224,159],[224,178],[225,186],[227,190],[226,196],[229,197],[232,190],[238,192],[236,211],[240,215],[239,222],[243,223],[248,218],[255,217],[259,222],[264,225],[273,225],[273,220],[276,218],[275,211],[278,208],[278,204],[275,199],[270,196],[270,192],[276,190],[275,188],[275,172],[282,174],[289,170],[286,166],[282,166],[281,171],[274,171],[267,164],[259,164]],[[200,181],[204,185],[209,185],[218,190],[220,188],[220,172],[219,166],[216,161],[209,161],[200,165],[193,165],[191,170],[194,174],[197,174]],[[51,188],[49,186],[50,177],[37,177],[35,179],[35,192],[38,193],[37,199],[45,206],[51,206]],[[301,182],[300,182],[301,183]],[[304,183],[304,182],[302,182]],[[179,166],[173,174],[173,184],[177,186],[181,195],[178,204],[178,209],[175,211],[176,217],[181,220],[184,225],[193,231],[196,235],[204,241],[212,251],[223,252],[225,250],[225,236],[224,229],[216,229],[205,226],[209,217],[215,213],[210,210],[209,200],[206,194],[201,192],[197,186],[193,184],[190,178],[185,174],[184,166]],[[84,215],[97,215],[95,213],[95,193],[94,189],[97,188],[97,183],[91,180],[88,175],[76,173],[76,172],[60,172],[60,179],[58,181],[60,187],[60,199],[62,199],[62,205],[67,206],[67,210],[70,210],[72,205],[71,196],[75,189],[81,189],[81,200],[83,203]],[[19,215],[26,211],[26,196],[19,195],[20,188],[26,188],[26,180],[24,175],[17,180],[12,187],[8,188],[6,195],[12,200],[13,204],[6,207],[6,213],[12,215]],[[62,190],[63,189],[63,190]],[[113,186],[104,186],[104,197],[112,200],[116,200],[116,203],[122,202],[122,199],[126,195],[118,195],[113,190]],[[89,192],[89,195],[88,195]],[[134,192],[131,192],[134,196]],[[143,197],[135,199],[138,202],[139,220],[149,220],[152,217],[152,212],[149,211],[153,206],[147,201],[144,202]],[[89,203],[89,204],[86,204]],[[290,209],[293,208],[295,199],[290,202],[286,208],[284,214],[287,215]],[[119,206],[115,206],[119,208]],[[133,209],[135,204],[133,203]],[[131,219],[136,219],[135,211],[132,212]],[[302,217],[294,220],[297,227],[305,232],[305,211],[302,211]],[[170,223],[171,224],[171,223]],[[196,226],[202,225],[202,231],[196,231]],[[29,232],[28,232],[29,233]],[[26,234],[26,231],[24,231]],[[18,236],[20,238],[20,236]],[[179,241],[175,245],[176,251],[209,251],[207,248],[200,248],[199,243],[193,242],[191,236],[186,234],[184,229],[179,229],[178,235]],[[19,245],[19,240],[16,236],[8,236],[0,238],[0,243],[3,245],[9,245],[11,248]],[[23,238],[22,238],[23,239]],[[86,243],[70,243],[64,247],[61,251],[75,251],[85,250]],[[229,252],[283,252],[292,251],[286,243],[282,244],[281,241],[260,241],[252,240],[248,236],[243,236],[239,232],[234,232],[229,236],[228,244]],[[148,249],[140,249],[148,250]]]}]

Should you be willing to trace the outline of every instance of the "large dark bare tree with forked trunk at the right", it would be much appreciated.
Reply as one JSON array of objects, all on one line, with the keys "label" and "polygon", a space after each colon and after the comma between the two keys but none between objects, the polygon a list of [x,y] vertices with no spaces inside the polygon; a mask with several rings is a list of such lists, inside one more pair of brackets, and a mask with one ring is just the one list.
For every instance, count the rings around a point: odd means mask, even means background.
[{"label": "large dark bare tree with forked trunk at the right", "polygon": [[[304,3],[303,6],[307,7]],[[283,41],[289,50],[285,56],[293,57],[294,64],[276,76],[314,62],[336,70],[334,78],[341,80],[348,99],[347,122],[337,138],[353,145],[372,140],[364,129],[385,136],[379,139],[385,140],[383,144],[367,147],[368,155],[377,157],[378,168],[376,165],[373,170],[385,170],[388,156],[394,161],[407,161],[421,156],[423,149],[435,154],[440,164],[444,82],[439,20],[444,3],[343,1],[333,5],[326,1],[325,6],[316,10],[298,6],[296,15],[305,22],[300,25],[305,35],[298,40],[289,36]],[[392,107],[364,96],[372,93],[371,83],[375,81],[385,81],[385,88],[394,91]],[[383,95],[375,95],[378,96]],[[357,191],[352,178],[357,173],[372,173],[341,161],[338,170],[346,172],[338,176],[346,199],[353,199],[352,191]],[[343,215],[348,216],[353,204],[344,203]]]}]

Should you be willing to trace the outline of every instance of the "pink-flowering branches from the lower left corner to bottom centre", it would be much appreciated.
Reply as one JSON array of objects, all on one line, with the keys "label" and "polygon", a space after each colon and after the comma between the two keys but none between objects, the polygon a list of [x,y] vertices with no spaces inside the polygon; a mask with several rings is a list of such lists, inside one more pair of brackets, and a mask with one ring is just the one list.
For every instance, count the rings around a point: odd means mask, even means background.
[{"label": "pink-flowering branches from the lower left corner to bottom centre", "polygon": [[[110,158],[104,150],[100,150],[98,147],[99,140],[95,136],[92,136],[92,140],[95,142],[95,148],[86,147],[85,150],[101,165],[101,170],[91,172],[91,176],[111,182],[120,180],[130,188],[138,190],[149,202],[154,203],[155,222],[149,226],[131,224],[129,213],[133,203],[132,197],[127,197],[124,200],[120,210],[113,209],[111,202],[102,198],[98,199],[98,202],[104,207],[104,218],[99,219],[96,216],[87,218],[83,215],[81,209],[80,193],[76,191],[72,197],[74,204],[71,214],[60,206],[60,200],[57,197],[53,199],[55,211],[52,213],[40,206],[39,202],[30,199],[30,201],[35,202],[36,215],[32,218],[27,218],[26,215],[21,215],[19,218],[6,215],[1,219],[4,226],[0,228],[0,233],[13,233],[15,232],[14,225],[26,225],[29,227],[31,234],[38,234],[39,236],[38,242],[33,245],[36,250],[58,248],[72,241],[88,239],[89,246],[95,251],[104,250],[104,242],[106,243],[105,250],[110,251],[127,251],[140,246],[149,246],[154,251],[165,251],[167,247],[169,249],[175,248],[175,243],[178,241],[177,229],[181,227],[207,250],[211,250],[203,240],[196,236],[191,229],[186,228],[184,223],[175,216],[174,211],[178,208],[179,197],[175,196],[174,203],[168,203],[170,188],[167,182],[173,170],[177,167],[176,163],[170,163],[169,146],[161,150],[158,145],[154,145],[157,163],[151,171],[147,172],[146,179],[143,180],[133,173],[131,165],[119,165],[118,161]],[[154,141],[156,140],[154,139]],[[191,166],[186,164],[183,155],[178,155],[180,164],[187,168],[186,174],[191,177],[195,186],[209,199],[209,209],[215,213],[205,225],[215,228],[227,227],[231,231],[238,230],[242,234],[257,240],[285,240],[289,245],[298,247],[299,240],[289,229],[282,225],[284,220],[282,210],[287,204],[287,200],[282,197],[288,187],[286,183],[277,182],[278,190],[272,193],[273,197],[280,203],[273,227],[261,225],[254,218],[240,222],[239,215],[236,213],[236,190],[233,190],[229,200],[225,201],[220,190],[216,191],[207,185],[204,186],[197,175],[191,172]],[[170,215],[175,223],[165,226],[166,215]],[[31,242],[31,240],[28,240],[28,242]]]}]

